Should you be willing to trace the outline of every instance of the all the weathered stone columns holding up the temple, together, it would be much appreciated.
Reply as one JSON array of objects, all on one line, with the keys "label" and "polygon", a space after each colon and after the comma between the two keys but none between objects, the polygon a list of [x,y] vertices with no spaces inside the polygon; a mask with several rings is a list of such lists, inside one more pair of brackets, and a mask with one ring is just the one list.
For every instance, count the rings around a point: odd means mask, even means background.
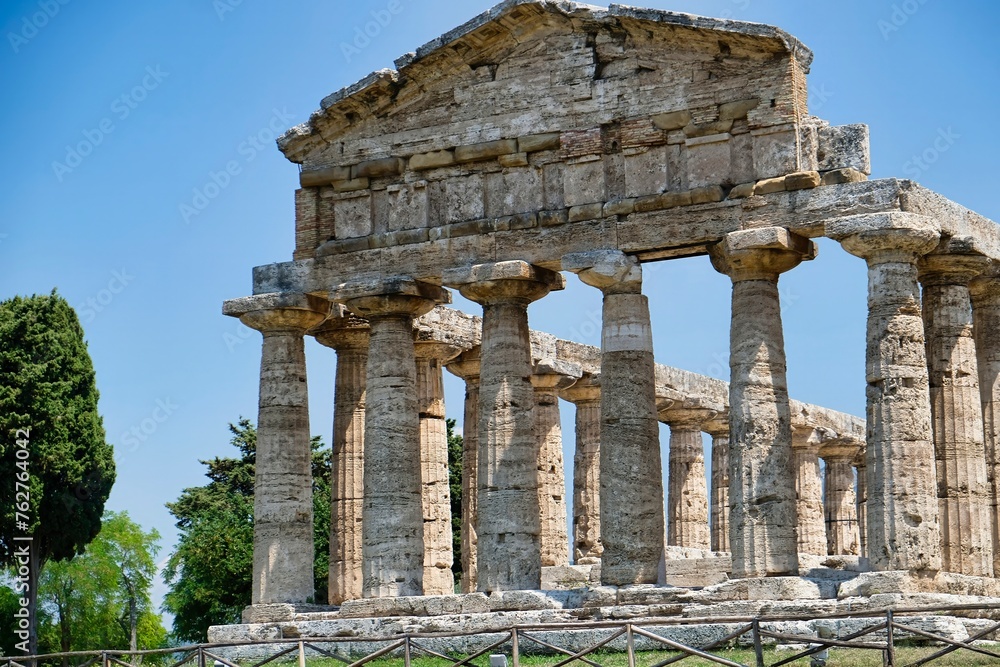
[{"label": "all the weathered stone columns holding up the temple, together", "polygon": [[[998,480],[993,474],[994,396],[1000,386],[998,281],[977,278],[987,268],[985,259],[954,246],[939,248],[939,234],[930,229],[857,230],[845,225],[839,232],[832,225],[828,232],[869,265],[869,433],[861,466],[865,475],[858,483],[866,505],[860,517],[866,525],[862,546],[876,569],[944,568],[991,576],[998,552]],[[852,462],[846,456],[828,460],[824,516],[824,504],[816,501],[819,485],[809,486],[809,480],[818,479],[818,459],[813,448],[794,446],[791,426],[778,276],[812,259],[815,246],[785,229],[765,228],[729,234],[710,254],[715,268],[733,282],[729,424],[727,430],[713,427],[718,442],[713,469],[729,473],[728,485],[713,484],[713,503],[720,508],[728,504],[729,512],[713,512],[717,529],[710,531],[707,507],[685,500],[694,495],[691,485],[698,480],[704,485],[701,432],[714,415],[704,406],[670,407],[670,479],[677,488],[670,494],[676,520],[668,540],[712,542],[722,549],[726,545],[719,526],[728,520],[734,576],[795,574],[800,552],[816,553],[824,541],[829,541],[826,549],[851,549],[855,539],[836,525],[851,505]],[[606,584],[653,583],[663,548],[663,492],[652,336],[641,271],[633,258],[617,251],[568,256],[563,268],[604,293],[600,391],[588,394],[582,384],[577,394],[582,404],[578,419],[590,415],[581,424],[586,442],[578,456],[597,460],[592,468],[575,466],[582,477],[578,489],[592,488],[597,478],[600,521],[599,526],[580,527],[575,550],[580,558],[596,559],[599,545]],[[561,289],[563,279],[512,261],[446,271],[444,282],[483,306],[479,359],[454,364],[465,368],[458,372],[467,379],[478,377],[469,383],[467,401],[472,403],[475,395],[478,408],[466,419],[474,428],[466,431],[467,453],[475,453],[467,457],[465,479],[474,487],[468,488],[467,511],[463,508],[466,525],[475,526],[469,536],[476,543],[470,572],[481,591],[535,589],[545,562],[568,557],[542,545],[544,531],[559,530],[556,524],[562,521],[556,517],[560,512],[564,516],[565,499],[546,496],[539,480],[556,474],[557,458],[561,464],[554,415],[558,392],[569,387],[561,386],[567,380],[560,369],[538,372],[533,367],[527,308]],[[429,592],[443,587],[444,575],[450,589],[450,548],[445,547],[450,545],[450,525],[445,527],[437,512],[440,502],[434,502],[434,494],[422,488],[443,483],[446,491],[446,460],[422,459],[421,453],[431,451],[426,443],[432,441],[438,443],[435,451],[446,452],[440,445],[440,370],[448,360],[443,357],[458,351],[428,350],[418,357],[412,338],[413,319],[447,302],[448,293],[412,279],[389,278],[342,285],[331,297],[369,323],[367,356],[360,343],[328,341],[338,351],[347,350],[345,366],[354,364],[342,376],[338,355],[338,391],[341,377],[345,391],[342,410],[338,396],[335,432],[343,438],[345,460],[353,463],[338,472],[340,505],[334,512],[348,523],[353,519],[357,527],[360,505],[364,530],[345,532],[351,545],[345,544],[344,553],[358,548],[360,532],[365,596]],[[327,317],[324,307],[328,310],[329,304],[300,299],[243,314],[245,323],[264,333],[255,603],[303,600],[308,598],[303,593],[311,591],[311,499],[302,483],[309,470],[302,336]],[[363,405],[356,382],[362,363]],[[349,389],[346,383],[352,380]],[[593,428],[595,412],[599,434]],[[539,420],[545,434],[541,442]],[[363,465],[361,456],[351,453],[359,451],[362,439]],[[355,449],[348,451],[349,445]],[[546,452],[541,457],[540,447]],[[363,494],[351,492],[357,490],[359,467]],[[435,473],[438,478],[431,479]],[[801,480],[798,489],[795,480]],[[581,501],[586,505],[587,499]],[[830,529],[810,531],[827,519]],[[342,566],[332,564],[331,579],[356,586],[346,572],[334,573]],[[289,574],[293,571],[297,574]],[[441,583],[435,583],[439,577]]]}]

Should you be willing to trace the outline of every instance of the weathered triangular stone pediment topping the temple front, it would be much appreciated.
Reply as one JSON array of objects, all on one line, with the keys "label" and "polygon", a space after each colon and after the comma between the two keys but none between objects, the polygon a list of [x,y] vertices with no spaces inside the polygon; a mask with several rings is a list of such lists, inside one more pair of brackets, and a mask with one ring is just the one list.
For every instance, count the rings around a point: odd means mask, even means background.
[{"label": "weathered triangular stone pediment topping the temple front", "polygon": [[804,99],[783,98],[811,58],[761,24],[508,0],[330,95],[279,146],[307,170],[330,168],[565,131],[573,119],[586,129],[690,109],[697,120],[699,108],[755,96],[783,105],[780,124],[804,113]]}]

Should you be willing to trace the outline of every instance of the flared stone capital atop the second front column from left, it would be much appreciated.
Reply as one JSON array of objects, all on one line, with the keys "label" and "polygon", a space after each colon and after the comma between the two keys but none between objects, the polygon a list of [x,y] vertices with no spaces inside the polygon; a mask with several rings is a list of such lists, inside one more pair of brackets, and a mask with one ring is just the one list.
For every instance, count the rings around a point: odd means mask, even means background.
[{"label": "flared stone capital atop the second front column from left", "polygon": [[376,276],[352,280],[330,290],[330,298],[358,317],[419,317],[435,306],[451,303],[448,290],[409,276]]}]

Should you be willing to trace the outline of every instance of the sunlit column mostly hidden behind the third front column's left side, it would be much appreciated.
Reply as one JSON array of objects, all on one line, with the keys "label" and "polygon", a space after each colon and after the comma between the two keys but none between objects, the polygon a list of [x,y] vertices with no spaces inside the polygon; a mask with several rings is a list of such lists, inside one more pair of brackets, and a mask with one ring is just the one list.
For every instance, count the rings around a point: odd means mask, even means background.
[{"label": "sunlit column mostly hidden behind the third front column's left side", "polygon": [[479,371],[480,348],[466,350],[448,364],[465,380],[465,417],[462,421],[462,592],[476,592],[477,498],[479,486]]}]

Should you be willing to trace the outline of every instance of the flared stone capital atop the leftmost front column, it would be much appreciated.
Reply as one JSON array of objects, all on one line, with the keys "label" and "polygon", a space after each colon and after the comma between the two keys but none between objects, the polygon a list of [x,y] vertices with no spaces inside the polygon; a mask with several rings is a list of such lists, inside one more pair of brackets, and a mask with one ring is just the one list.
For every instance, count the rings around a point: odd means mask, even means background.
[{"label": "flared stone capital atop the leftmost front column", "polygon": [[243,324],[263,334],[297,333],[317,326],[330,315],[329,301],[312,294],[275,292],[232,299],[222,313],[238,317]]}]

